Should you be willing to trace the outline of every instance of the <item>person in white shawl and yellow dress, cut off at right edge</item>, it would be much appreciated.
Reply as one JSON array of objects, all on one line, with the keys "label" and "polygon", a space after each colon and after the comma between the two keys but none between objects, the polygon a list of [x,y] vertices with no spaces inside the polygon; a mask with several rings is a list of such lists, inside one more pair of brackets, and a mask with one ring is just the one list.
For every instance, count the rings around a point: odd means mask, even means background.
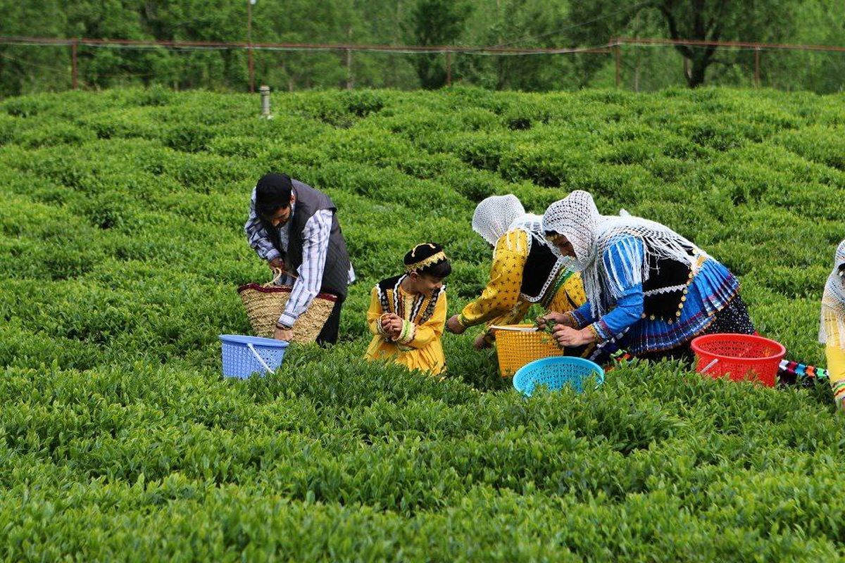
[{"label": "person in white shawl and yellow dress, cut off at right edge", "polygon": [[845,241],[839,243],[833,271],[821,298],[819,341],[826,344],[827,374],[837,408],[845,411]]}]

